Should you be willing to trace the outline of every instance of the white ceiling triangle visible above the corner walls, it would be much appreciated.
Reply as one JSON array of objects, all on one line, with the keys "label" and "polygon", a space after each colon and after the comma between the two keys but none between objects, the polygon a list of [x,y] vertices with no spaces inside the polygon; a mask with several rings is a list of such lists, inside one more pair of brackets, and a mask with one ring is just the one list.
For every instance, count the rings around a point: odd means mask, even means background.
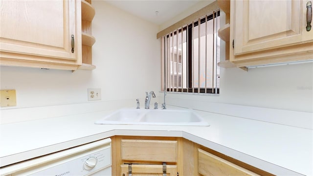
[{"label": "white ceiling triangle visible above the corner walls", "polygon": [[[161,24],[179,15],[201,0],[105,0],[147,21]],[[157,13],[156,13],[157,11]]]}]

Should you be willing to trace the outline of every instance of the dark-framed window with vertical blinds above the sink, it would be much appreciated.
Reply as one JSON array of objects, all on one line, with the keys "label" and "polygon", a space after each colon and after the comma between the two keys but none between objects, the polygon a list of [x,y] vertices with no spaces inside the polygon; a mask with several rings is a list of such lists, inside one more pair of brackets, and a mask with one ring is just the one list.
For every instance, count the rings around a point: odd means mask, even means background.
[{"label": "dark-framed window with vertical blinds above the sink", "polygon": [[163,37],[166,91],[219,93],[220,11],[212,12]]}]

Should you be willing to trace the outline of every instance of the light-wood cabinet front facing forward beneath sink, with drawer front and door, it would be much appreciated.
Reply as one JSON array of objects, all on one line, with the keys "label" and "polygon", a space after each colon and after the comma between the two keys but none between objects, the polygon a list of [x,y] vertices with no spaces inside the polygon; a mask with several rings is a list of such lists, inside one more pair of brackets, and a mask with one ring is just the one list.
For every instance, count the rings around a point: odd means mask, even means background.
[{"label": "light-wood cabinet front facing forward beneath sink, with drawer front and door", "polygon": [[[169,140],[170,139],[170,140]],[[114,136],[112,175],[177,175],[178,141],[173,138]]]}]

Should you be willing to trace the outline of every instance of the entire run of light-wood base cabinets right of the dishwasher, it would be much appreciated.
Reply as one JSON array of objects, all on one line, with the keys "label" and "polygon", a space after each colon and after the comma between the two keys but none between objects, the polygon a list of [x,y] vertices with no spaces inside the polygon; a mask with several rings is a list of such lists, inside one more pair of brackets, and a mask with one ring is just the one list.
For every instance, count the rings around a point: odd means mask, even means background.
[{"label": "entire run of light-wood base cabinets right of the dishwasher", "polygon": [[271,174],[181,137],[112,136],[112,175],[258,176]]}]

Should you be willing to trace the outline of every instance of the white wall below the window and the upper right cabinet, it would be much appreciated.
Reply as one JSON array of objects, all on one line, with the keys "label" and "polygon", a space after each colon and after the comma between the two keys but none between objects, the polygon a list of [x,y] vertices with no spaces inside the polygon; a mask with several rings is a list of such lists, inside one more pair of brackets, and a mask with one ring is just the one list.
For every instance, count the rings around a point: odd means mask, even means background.
[{"label": "white wall below the window and the upper right cabinet", "polygon": [[[255,68],[248,72],[240,68],[221,68],[219,95],[167,93],[166,101],[169,105],[187,108],[218,102],[312,112],[312,80],[313,64]],[[178,102],[187,103],[178,105]]]}]

